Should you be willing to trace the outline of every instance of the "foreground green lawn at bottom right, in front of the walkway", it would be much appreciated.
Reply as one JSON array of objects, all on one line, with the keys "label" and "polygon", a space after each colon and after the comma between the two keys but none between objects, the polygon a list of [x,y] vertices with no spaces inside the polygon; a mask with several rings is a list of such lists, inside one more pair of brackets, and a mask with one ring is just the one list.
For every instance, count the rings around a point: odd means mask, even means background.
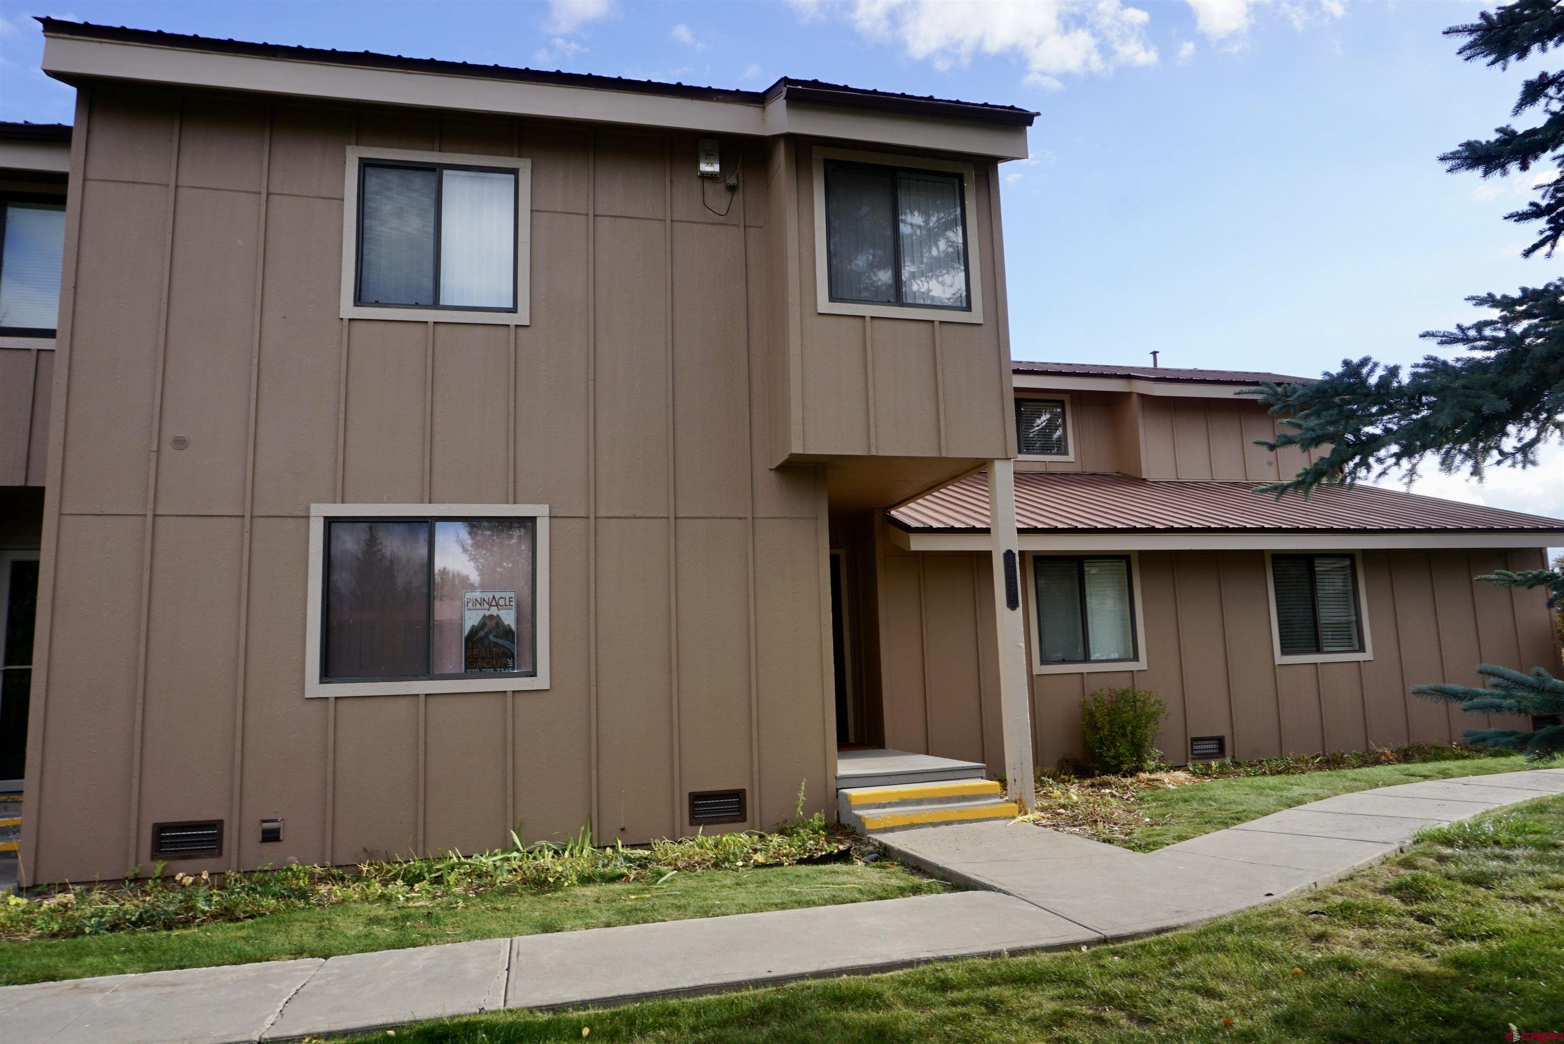
[{"label": "foreground green lawn at bottom right, in front of the walkway", "polygon": [[396,1039],[580,1041],[590,1028],[593,1044],[1469,1044],[1498,1041],[1511,1024],[1564,1030],[1561,839],[1564,797],[1548,797],[1434,831],[1309,896],[1139,942],[605,1011],[483,1014]]}]

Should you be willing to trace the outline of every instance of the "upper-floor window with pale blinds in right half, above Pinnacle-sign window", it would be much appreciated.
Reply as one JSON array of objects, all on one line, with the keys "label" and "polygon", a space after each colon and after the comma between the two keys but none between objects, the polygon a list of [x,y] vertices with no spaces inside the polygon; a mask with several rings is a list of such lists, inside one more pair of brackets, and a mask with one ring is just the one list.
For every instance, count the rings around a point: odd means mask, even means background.
[{"label": "upper-floor window with pale blinds in right half, above Pinnacle-sign window", "polygon": [[516,172],[364,161],[353,300],[516,311]]}]

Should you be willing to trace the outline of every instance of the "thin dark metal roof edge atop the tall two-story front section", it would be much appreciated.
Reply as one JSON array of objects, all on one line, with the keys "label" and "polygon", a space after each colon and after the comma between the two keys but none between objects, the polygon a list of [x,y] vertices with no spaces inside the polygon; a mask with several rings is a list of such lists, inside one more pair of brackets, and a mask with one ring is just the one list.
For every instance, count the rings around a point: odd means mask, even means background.
[{"label": "thin dark metal roof edge atop the tall two-story front section", "polygon": [[250,58],[282,58],[288,61],[311,61],[333,66],[357,66],[360,69],[393,69],[407,72],[439,72],[455,77],[480,77],[486,80],[513,80],[518,83],[546,83],[566,88],[591,88],[599,91],[632,91],[658,94],[674,98],[702,102],[729,102],[737,105],[765,105],[779,95],[813,105],[832,105],[863,109],[884,109],[915,116],[940,116],[946,119],[981,120],[1012,127],[1031,127],[1037,113],[1013,105],[987,102],[960,102],[932,95],[896,94],[893,91],[870,91],[820,80],[793,80],[782,77],[765,91],[738,91],[729,88],[702,88],[657,80],[630,80],[626,77],[601,77],[582,72],[524,69],[515,66],[482,66],[466,61],[439,58],[405,58],[375,52],[344,52],[324,47],[296,47],[288,44],[260,44],[235,39],[216,39],[189,33],[164,33],[161,30],[135,30],[124,25],[94,25],[64,19],[38,17],[44,33],[50,36],[74,36],[80,39],[114,41],[153,47],[178,47],[185,50],[244,55]]}]

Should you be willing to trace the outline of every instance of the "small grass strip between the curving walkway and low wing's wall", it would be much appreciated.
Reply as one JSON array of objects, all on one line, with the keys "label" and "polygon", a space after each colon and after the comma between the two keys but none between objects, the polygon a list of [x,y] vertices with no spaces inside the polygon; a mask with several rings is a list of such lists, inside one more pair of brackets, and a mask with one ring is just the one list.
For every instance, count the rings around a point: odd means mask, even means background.
[{"label": "small grass strip between the curving walkway and low wing's wall", "polygon": [[[1520,772],[1526,767],[1530,766],[1525,760],[1514,756],[1469,758],[1462,761],[1376,764],[1367,769],[1337,769],[1298,775],[1248,775],[1190,783],[1173,789],[1148,789],[1137,794],[1137,808],[1151,817],[1151,822],[1139,827],[1118,844],[1135,852],[1151,852],[1336,794],[1419,780],[1447,780],[1458,775]],[[1564,1030],[1564,1027],[1559,1028]]]}]

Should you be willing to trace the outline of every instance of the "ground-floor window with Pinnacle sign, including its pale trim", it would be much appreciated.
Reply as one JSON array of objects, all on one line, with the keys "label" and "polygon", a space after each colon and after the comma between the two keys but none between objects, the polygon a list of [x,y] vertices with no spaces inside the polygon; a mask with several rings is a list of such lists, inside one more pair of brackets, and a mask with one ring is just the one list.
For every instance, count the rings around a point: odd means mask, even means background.
[{"label": "ground-floor window with Pinnacle sign, including its pale trim", "polygon": [[547,514],[317,505],[310,695],[547,685]]}]

